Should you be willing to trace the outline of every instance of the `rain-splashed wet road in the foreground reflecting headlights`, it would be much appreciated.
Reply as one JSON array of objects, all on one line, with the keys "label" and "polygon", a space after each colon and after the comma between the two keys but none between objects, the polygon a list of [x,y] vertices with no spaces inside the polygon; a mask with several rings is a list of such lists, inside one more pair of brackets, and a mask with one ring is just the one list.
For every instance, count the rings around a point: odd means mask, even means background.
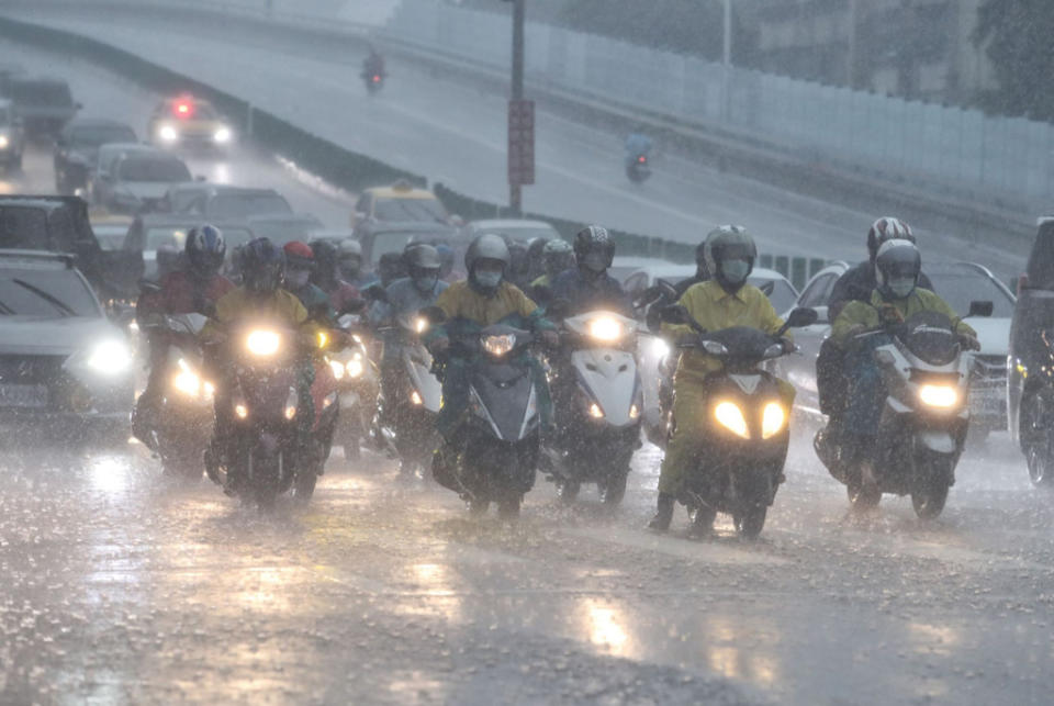
[{"label": "rain-splashed wet road in the foreground reflecting headlights", "polygon": [[944,515],[846,513],[795,441],[760,541],[657,536],[539,483],[470,519],[339,449],[309,507],[242,508],[142,447],[8,455],[4,703],[1050,703],[1051,498],[1005,439]]}]

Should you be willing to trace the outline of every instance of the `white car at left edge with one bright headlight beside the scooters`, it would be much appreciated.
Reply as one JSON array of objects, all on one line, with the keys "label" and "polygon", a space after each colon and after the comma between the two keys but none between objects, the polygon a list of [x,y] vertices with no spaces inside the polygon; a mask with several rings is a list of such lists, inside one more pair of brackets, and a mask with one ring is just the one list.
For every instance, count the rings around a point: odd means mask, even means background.
[{"label": "white car at left edge with one bright headlight beside the scooters", "polygon": [[74,262],[0,250],[0,421],[126,442],[132,350]]}]

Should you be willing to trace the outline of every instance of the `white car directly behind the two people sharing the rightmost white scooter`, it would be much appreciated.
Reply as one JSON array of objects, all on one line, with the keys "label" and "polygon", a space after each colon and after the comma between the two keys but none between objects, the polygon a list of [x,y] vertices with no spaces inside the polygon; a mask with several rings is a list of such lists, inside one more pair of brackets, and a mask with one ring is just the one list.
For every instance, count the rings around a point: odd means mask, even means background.
[{"label": "white car directly behind the two people sharing the rightmost white scooter", "polygon": [[[800,355],[781,359],[781,371],[797,389],[795,406],[807,415],[820,415],[816,386],[816,358],[820,345],[830,335],[828,302],[834,282],[848,269],[846,262],[832,262],[817,272],[801,290],[797,302],[787,306],[815,309],[816,324],[794,332]],[[1014,294],[987,268],[974,262],[924,262],[922,271],[933,283],[933,290],[958,313],[967,316],[973,302],[991,302],[990,316],[971,317],[969,325],[977,332],[980,350],[974,354],[969,380],[971,433],[983,438],[1007,425],[1007,351],[1010,339],[1010,320]]]}]

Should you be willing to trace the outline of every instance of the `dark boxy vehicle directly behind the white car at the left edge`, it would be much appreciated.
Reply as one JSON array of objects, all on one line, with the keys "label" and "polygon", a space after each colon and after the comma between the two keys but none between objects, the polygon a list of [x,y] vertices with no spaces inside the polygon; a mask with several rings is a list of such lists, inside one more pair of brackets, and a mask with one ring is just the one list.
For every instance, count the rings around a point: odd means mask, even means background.
[{"label": "dark boxy vehicle directly behind the white car at the left edge", "polygon": [[69,253],[104,302],[134,301],[143,273],[138,254],[103,250],[79,197],[0,195],[0,248]]}]

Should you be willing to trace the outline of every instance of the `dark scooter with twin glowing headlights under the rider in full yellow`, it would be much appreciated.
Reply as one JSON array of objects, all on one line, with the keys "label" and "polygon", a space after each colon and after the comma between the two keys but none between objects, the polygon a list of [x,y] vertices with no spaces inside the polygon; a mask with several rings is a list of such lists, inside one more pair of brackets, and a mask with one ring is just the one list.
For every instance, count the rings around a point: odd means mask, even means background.
[{"label": "dark scooter with twin glowing headlights under the rider in full yellow", "polygon": [[698,456],[677,500],[693,515],[693,535],[709,533],[721,512],[732,516],[741,537],[753,539],[785,480],[790,438],[790,410],[764,363],[787,355],[781,337],[789,328],[811,325],[817,314],[794,310],[775,336],[749,326],[706,332],[680,305],[663,309],[661,315],[663,322],[687,325],[698,334],[679,347],[702,350],[721,362],[707,378],[707,414],[697,428],[706,452]]}]

